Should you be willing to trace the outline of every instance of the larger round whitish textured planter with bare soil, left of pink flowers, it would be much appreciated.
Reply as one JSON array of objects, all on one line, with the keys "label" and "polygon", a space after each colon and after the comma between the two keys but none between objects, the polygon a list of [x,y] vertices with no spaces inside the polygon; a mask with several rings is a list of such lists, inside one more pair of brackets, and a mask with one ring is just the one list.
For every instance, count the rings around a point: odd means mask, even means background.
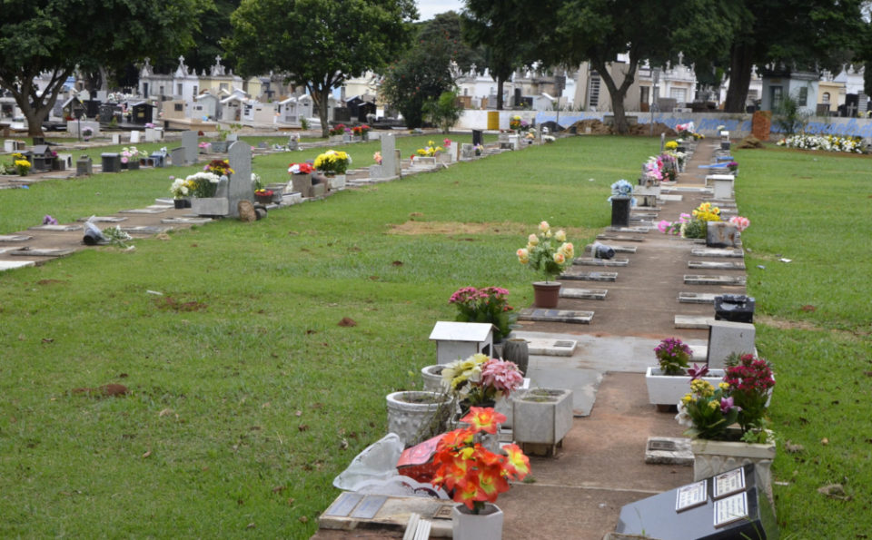
[{"label": "larger round whitish textured planter with bare soil, left of pink flowers", "polygon": [[406,447],[415,445],[428,438],[426,427],[436,421],[437,414],[451,417],[450,403],[448,395],[437,392],[412,390],[388,394],[388,431],[396,433]]}]

